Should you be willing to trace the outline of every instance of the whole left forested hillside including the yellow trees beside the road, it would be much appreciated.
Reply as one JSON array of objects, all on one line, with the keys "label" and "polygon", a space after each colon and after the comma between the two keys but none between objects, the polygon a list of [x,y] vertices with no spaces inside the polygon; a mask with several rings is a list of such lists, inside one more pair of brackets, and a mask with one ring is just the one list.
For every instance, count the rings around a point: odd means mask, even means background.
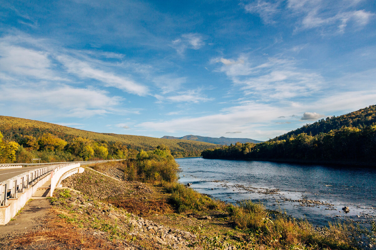
[{"label": "whole left forested hillside including the yellow trees beside the road", "polygon": [[[136,135],[96,133],[57,124],[0,116],[0,162],[42,158],[45,162],[123,158],[166,145],[174,157],[199,156],[214,144]],[[22,155],[22,157],[21,157]]]}]

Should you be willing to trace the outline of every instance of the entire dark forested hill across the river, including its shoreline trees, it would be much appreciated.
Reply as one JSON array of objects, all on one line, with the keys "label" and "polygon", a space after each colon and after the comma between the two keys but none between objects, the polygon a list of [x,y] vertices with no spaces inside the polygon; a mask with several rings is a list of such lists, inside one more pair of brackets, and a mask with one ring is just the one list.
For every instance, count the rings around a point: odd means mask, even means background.
[{"label": "entire dark forested hill across the river, including its shoreline trees", "polygon": [[[259,144],[236,143],[202,152],[209,159],[260,159],[376,165],[375,108],[306,125]],[[329,131],[328,131],[329,130]]]}]

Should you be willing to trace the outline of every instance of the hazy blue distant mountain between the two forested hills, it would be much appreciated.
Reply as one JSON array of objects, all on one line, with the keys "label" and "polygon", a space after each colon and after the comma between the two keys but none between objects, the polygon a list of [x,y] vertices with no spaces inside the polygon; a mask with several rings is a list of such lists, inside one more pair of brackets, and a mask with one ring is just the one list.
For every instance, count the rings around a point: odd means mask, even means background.
[{"label": "hazy blue distant mountain between the two forested hills", "polygon": [[181,140],[190,140],[190,141],[200,141],[200,142],[208,142],[213,144],[220,144],[220,145],[230,145],[235,144],[237,142],[241,143],[260,143],[262,141],[257,141],[249,138],[214,138],[214,137],[206,137],[206,136],[199,136],[199,135],[186,135],[183,137],[174,137],[174,136],[163,136],[161,139],[181,139]]}]

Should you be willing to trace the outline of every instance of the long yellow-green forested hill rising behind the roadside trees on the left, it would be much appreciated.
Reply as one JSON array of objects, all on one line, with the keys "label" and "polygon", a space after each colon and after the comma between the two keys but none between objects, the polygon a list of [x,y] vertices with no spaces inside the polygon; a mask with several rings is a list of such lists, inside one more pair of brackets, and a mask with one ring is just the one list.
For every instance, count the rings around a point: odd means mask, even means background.
[{"label": "long yellow-green forested hill rising behind the roadside trees on the left", "polygon": [[[113,133],[97,133],[58,124],[35,121],[23,118],[0,116],[0,132],[5,142],[17,142],[30,150],[35,149],[33,144],[38,144],[36,150],[41,150],[44,146],[42,141],[56,141],[56,138],[62,139],[64,143],[72,142],[77,138],[88,139],[108,148],[109,156],[114,155],[111,148],[121,148],[127,150],[153,150],[160,144],[166,145],[175,157],[199,156],[200,153],[208,148],[214,148],[216,145],[206,142],[187,141],[187,140],[168,140],[136,135],[118,135]],[[52,143],[52,142],[51,142]],[[51,144],[50,143],[50,144]],[[58,143],[58,142],[56,142]],[[64,144],[63,143],[63,144]],[[115,147],[116,145],[116,147]],[[59,149],[60,146],[48,146],[47,148]],[[64,146],[63,146],[64,147]],[[65,145],[65,147],[67,147]],[[53,151],[52,150],[52,151]],[[66,151],[66,148],[64,149]],[[112,150],[114,151],[114,150]]]}]

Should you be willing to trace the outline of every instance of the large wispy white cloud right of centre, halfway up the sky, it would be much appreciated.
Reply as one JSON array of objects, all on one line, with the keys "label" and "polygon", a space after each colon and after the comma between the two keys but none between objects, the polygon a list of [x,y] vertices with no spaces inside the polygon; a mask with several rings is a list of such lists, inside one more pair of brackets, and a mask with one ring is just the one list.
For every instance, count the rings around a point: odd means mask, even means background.
[{"label": "large wispy white cloud right of centre, halfway up the sky", "polygon": [[265,63],[254,65],[246,55],[237,60],[222,59],[216,60],[223,63],[219,70],[244,94],[265,100],[310,96],[321,89],[323,82],[320,74],[299,69],[294,60],[270,57]]}]

